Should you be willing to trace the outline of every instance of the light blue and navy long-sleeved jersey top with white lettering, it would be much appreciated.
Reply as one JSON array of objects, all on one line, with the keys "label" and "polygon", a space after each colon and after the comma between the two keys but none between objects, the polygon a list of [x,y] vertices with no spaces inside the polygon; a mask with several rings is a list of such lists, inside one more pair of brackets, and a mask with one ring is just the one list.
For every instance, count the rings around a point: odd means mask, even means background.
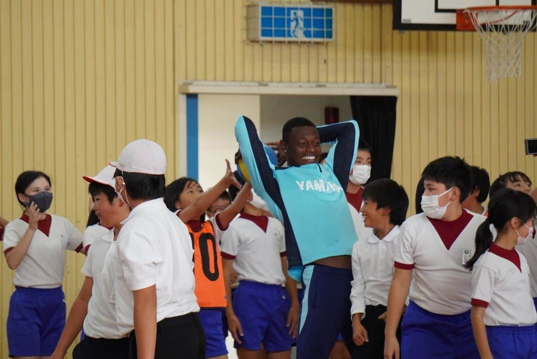
[{"label": "light blue and navy long-sleeved jersey top with white lettering", "polygon": [[355,121],[317,127],[321,143],[335,143],[326,164],[274,166],[253,122],[240,116],[235,137],[253,190],[285,228],[289,275],[302,280],[304,266],[335,255],[351,255],[357,241],[345,196],[358,148]]}]

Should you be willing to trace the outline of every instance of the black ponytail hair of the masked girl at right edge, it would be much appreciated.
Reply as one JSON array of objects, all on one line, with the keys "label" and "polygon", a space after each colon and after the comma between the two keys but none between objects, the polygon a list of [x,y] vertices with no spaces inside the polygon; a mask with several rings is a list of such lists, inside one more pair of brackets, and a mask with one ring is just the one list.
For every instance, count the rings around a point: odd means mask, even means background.
[{"label": "black ponytail hair of the masked girl at right edge", "polygon": [[507,222],[513,217],[526,223],[529,219],[537,215],[537,205],[532,197],[524,192],[514,191],[510,188],[500,189],[498,193],[491,197],[489,203],[489,216],[477,228],[475,234],[475,253],[473,257],[466,262],[465,267],[472,269],[475,262],[483,253],[485,253],[492,244],[492,232],[490,225],[499,232],[503,231]]}]

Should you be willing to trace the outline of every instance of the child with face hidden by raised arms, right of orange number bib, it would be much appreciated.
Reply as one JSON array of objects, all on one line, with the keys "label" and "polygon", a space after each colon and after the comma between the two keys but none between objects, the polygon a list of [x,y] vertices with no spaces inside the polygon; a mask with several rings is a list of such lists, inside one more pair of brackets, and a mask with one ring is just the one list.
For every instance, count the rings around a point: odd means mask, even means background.
[{"label": "child with face hidden by raised arms, right of orange number bib", "polygon": [[[240,217],[222,236],[222,265],[228,305],[229,331],[240,359],[255,358],[263,345],[269,357],[291,356],[296,338],[299,301],[296,282],[287,274],[284,227],[278,219],[263,215],[264,201],[253,194]],[[239,285],[231,298],[231,270]],[[291,308],[286,300],[286,285]]]}]

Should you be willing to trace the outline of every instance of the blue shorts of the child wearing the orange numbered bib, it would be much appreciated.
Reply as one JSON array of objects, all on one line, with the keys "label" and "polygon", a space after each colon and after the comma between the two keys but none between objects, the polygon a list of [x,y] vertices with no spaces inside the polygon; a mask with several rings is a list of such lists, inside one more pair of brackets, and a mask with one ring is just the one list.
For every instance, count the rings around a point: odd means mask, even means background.
[{"label": "blue shorts of the child wearing the orange numbered bib", "polygon": [[205,333],[205,357],[220,356],[228,354],[226,348],[226,337],[222,333],[222,317],[224,310],[219,308],[201,308],[198,318]]}]

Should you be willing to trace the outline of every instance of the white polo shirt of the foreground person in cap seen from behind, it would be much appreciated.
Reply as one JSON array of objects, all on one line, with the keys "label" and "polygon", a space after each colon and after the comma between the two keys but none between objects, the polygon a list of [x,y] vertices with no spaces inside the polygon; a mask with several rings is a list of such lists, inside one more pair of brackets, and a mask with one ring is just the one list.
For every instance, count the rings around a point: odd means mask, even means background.
[{"label": "white polo shirt of the foreground person in cap seen from behind", "polygon": [[186,225],[166,208],[162,198],[139,204],[122,224],[115,273],[121,333],[134,329],[133,291],[151,285],[156,284],[157,321],[198,312],[192,240]]}]

